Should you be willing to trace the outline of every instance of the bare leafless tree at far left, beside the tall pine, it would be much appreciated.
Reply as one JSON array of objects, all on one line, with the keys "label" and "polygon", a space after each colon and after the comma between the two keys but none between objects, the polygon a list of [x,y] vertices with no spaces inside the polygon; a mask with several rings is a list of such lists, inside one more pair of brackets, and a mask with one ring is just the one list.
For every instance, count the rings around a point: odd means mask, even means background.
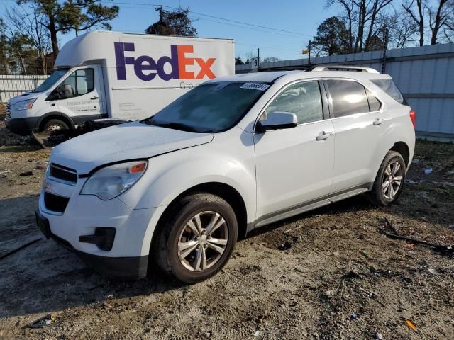
[{"label": "bare leafless tree at far left, beside the tall pine", "polygon": [[9,26],[33,41],[40,62],[39,69],[43,74],[48,74],[46,55],[50,52],[50,38],[47,34],[47,28],[41,24],[44,20],[43,14],[38,11],[28,13],[20,4],[19,8],[21,8],[20,12],[17,11],[17,8],[6,10]]}]

